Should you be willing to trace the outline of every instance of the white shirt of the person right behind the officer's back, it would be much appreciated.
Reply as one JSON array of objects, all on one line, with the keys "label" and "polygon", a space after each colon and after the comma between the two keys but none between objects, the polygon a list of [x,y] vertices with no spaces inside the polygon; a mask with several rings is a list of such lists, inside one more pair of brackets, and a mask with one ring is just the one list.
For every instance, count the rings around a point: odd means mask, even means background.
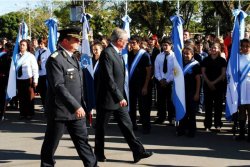
[{"label": "white shirt of the person right behind the officer's back", "polygon": [[[45,52],[43,53],[44,50]],[[46,75],[45,65],[51,53],[50,53],[50,50],[47,48],[38,49],[35,53],[36,60],[38,59],[39,53],[42,53],[41,54],[41,70],[39,69],[39,76],[43,76],[43,75]]]}]

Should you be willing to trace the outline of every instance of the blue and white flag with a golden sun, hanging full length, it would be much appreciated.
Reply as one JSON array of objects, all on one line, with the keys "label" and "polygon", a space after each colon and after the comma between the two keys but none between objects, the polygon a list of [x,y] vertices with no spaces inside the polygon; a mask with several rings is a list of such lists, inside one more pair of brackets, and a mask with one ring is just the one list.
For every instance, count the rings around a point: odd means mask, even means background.
[{"label": "blue and white flag with a golden sun, hanging full length", "polygon": [[180,121],[186,113],[185,102],[185,82],[182,64],[182,48],[183,48],[183,23],[184,21],[179,15],[170,17],[173,23],[172,41],[175,53],[174,59],[174,84],[173,84],[173,103],[176,110],[176,121]]}]

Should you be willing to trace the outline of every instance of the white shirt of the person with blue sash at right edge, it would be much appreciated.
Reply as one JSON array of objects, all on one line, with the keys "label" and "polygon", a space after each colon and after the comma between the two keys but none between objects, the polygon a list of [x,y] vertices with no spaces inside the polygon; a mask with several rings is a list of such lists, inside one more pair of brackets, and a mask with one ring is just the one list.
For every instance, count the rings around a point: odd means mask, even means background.
[{"label": "white shirt of the person with blue sash at right edge", "polygon": [[[250,54],[240,55],[240,72],[250,63]],[[250,72],[246,75],[240,85],[240,102],[241,104],[250,104]]]}]

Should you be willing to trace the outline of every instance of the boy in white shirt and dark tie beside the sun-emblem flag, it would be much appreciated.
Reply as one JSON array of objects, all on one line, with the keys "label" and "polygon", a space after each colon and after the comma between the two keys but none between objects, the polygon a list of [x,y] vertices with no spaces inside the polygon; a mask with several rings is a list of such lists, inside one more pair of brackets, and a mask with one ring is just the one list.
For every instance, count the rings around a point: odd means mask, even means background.
[{"label": "boy in white shirt and dark tie beside the sun-emblem flag", "polygon": [[161,41],[163,52],[155,59],[155,78],[157,80],[157,109],[158,119],[155,124],[162,124],[166,119],[166,104],[168,109],[168,121],[173,125],[174,105],[172,102],[172,85],[174,80],[174,52],[172,41],[164,37]]}]

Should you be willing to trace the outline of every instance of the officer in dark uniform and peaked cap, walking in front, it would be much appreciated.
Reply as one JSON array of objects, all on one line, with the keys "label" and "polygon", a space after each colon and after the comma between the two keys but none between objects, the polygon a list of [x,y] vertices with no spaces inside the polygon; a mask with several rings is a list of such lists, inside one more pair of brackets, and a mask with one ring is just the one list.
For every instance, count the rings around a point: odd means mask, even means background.
[{"label": "officer in dark uniform and peaked cap, walking in front", "polygon": [[58,50],[47,60],[48,91],[45,102],[47,129],[41,149],[41,166],[54,166],[54,153],[67,128],[85,167],[97,166],[88,143],[82,70],[74,57],[80,44],[81,29],[59,31]]}]

